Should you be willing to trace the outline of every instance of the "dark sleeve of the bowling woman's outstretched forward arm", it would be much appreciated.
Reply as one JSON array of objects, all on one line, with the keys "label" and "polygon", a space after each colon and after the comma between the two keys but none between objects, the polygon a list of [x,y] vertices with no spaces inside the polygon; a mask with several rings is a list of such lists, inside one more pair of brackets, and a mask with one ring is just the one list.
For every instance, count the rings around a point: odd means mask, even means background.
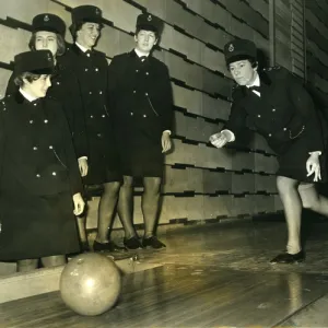
[{"label": "dark sleeve of the bowling woman's outstretched forward arm", "polygon": [[245,130],[247,117],[247,113],[244,106],[242,105],[239,97],[237,97],[236,93],[237,92],[233,93],[233,103],[231,106],[230,116],[226,124],[223,127],[223,130],[230,130],[234,133],[234,140],[238,139],[241,133]]}]

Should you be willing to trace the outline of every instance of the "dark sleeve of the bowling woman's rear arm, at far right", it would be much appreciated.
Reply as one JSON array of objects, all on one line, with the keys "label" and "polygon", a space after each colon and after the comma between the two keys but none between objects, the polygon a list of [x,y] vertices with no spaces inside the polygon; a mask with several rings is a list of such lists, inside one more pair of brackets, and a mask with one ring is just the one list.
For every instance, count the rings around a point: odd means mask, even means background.
[{"label": "dark sleeve of the bowling woman's rear arm, at far right", "polygon": [[[308,142],[308,152],[324,151],[324,138],[321,125],[319,121],[318,113],[315,108],[314,102],[304,89],[304,86],[290,74],[289,94],[293,105],[295,106],[298,115],[302,116],[305,124],[305,129],[311,131]],[[297,131],[296,131],[297,132]]]}]

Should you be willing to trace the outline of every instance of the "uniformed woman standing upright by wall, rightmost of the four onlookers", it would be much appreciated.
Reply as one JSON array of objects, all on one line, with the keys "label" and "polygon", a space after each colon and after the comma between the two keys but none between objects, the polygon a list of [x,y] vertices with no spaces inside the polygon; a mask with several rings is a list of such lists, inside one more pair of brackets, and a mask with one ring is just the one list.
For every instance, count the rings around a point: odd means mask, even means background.
[{"label": "uniformed woman standing upright by wall, rightmost of the four onlookers", "polygon": [[[164,153],[169,151],[173,96],[167,67],[152,57],[161,21],[150,14],[137,19],[136,47],[115,56],[108,68],[108,96],[115,138],[124,174],[118,213],[128,248],[165,247],[156,237]],[[140,243],[133,227],[133,180],[142,178],[141,208],[144,235]]]}]

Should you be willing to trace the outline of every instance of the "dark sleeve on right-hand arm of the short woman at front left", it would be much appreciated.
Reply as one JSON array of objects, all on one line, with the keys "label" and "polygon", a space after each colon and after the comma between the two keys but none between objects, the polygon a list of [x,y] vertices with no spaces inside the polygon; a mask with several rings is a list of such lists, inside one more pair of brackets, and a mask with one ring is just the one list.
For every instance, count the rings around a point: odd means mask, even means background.
[{"label": "dark sleeve on right-hand arm of the short woman at front left", "polygon": [[83,191],[81,175],[79,171],[78,160],[74,152],[74,147],[71,138],[71,132],[69,129],[69,125],[63,115],[62,109],[58,110],[59,119],[61,121],[60,132],[63,136],[63,144],[65,153],[66,153],[66,163],[69,173],[69,184],[71,187],[72,195]]}]

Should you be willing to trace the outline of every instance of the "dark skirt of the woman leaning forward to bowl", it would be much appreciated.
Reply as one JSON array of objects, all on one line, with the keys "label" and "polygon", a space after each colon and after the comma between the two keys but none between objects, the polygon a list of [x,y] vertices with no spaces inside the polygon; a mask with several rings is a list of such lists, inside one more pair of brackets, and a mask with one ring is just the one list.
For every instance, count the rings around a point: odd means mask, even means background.
[{"label": "dark skirt of the woman leaning forward to bowl", "polygon": [[[278,152],[279,168],[277,175],[293,178],[302,183],[313,183],[314,174],[307,177],[306,161],[309,157],[307,138],[308,131],[302,137],[291,140],[283,145],[283,150]],[[315,151],[315,150],[313,150]],[[327,181],[327,159],[326,153],[319,156],[321,183]]]}]

